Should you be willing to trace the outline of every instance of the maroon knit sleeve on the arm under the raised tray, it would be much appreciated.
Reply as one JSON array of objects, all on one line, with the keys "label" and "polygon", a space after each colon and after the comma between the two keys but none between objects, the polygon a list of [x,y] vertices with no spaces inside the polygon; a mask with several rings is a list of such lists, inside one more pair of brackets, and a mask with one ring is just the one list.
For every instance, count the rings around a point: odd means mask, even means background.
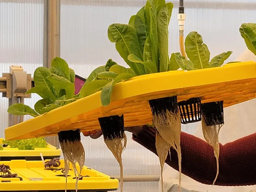
[{"label": "maroon knit sleeve on the arm under the raised tray", "polygon": [[[133,139],[157,155],[154,128],[144,126]],[[204,184],[212,184],[216,176],[216,159],[212,147],[204,140],[181,132],[182,173]],[[166,163],[178,170],[178,155],[171,148]],[[225,145],[220,144],[219,175],[215,185],[256,184],[256,134]]]}]

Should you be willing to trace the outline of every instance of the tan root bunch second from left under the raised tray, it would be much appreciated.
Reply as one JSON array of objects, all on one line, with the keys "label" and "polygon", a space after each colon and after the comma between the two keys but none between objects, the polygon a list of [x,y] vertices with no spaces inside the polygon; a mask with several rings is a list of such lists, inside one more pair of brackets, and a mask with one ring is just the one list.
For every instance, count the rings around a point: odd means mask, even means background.
[{"label": "tan root bunch second from left under the raised tray", "polygon": [[121,192],[123,191],[123,163],[122,163],[122,152],[125,150],[127,138],[125,133],[123,133],[122,138],[115,139],[104,139],[104,142],[107,145],[107,148],[112,152],[115,159],[120,166],[120,183],[121,183]]}]

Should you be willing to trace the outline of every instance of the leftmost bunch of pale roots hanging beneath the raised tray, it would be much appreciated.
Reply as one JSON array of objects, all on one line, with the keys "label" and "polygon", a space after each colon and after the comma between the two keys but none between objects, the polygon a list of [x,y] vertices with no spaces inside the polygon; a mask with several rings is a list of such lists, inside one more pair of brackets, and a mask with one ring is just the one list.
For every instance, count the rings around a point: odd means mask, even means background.
[{"label": "leftmost bunch of pale roots hanging beneath the raised tray", "polygon": [[[78,179],[81,175],[82,169],[85,163],[85,151],[82,143],[80,141],[63,141],[60,142],[60,146],[64,156],[64,164],[65,164],[65,176],[66,176],[66,187],[67,187],[67,177],[69,172],[69,162],[72,164],[74,169],[74,174],[76,176],[76,192],[78,189]],[[76,163],[80,170],[78,171],[76,167]],[[65,191],[66,191],[65,187]]]}]

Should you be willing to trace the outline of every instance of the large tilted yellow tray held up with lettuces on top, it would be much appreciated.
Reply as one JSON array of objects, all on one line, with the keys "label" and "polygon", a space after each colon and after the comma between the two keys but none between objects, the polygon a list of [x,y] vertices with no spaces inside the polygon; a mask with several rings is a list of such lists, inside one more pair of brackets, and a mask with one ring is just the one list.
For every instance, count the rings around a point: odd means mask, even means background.
[{"label": "large tilted yellow tray held up with lettuces on top", "polygon": [[256,97],[256,62],[184,72],[170,71],[134,77],[113,88],[110,105],[101,105],[101,91],[5,129],[6,139],[57,135],[80,128],[99,129],[98,118],[124,114],[125,126],[152,122],[148,101],[178,95],[178,101],[200,97],[202,103],[224,101],[224,107]]}]

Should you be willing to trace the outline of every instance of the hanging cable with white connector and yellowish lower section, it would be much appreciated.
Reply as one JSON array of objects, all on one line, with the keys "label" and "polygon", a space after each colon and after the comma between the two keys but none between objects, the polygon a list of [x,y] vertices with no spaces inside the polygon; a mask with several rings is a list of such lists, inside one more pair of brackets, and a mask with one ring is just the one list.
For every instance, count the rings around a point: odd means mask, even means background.
[{"label": "hanging cable with white connector and yellowish lower section", "polygon": [[184,5],[183,5],[183,0],[180,0],[179,13],[178,13],[179,46],[180,46],[181,55],[187,59],[185,48],[184,48],[184,21],[185,21]]}]

